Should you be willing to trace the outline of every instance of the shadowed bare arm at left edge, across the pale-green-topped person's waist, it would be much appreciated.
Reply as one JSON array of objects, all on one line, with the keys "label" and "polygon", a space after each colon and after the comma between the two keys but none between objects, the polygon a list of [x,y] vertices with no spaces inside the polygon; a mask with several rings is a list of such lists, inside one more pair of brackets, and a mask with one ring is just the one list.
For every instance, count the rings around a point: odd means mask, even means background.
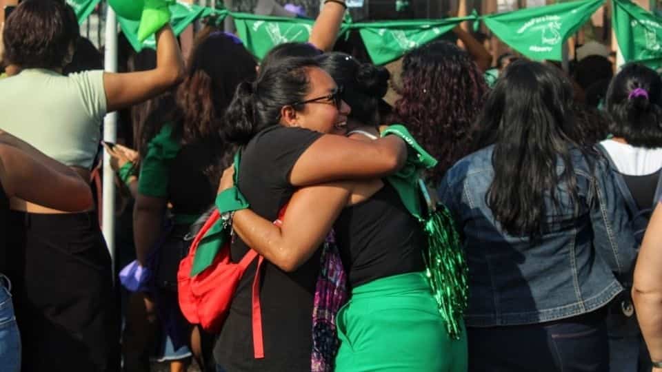
[{"label": "shadowed bare arm at left edge, across the pale-green-topped person's waist", "polygon": [[92,208],[92,190],[83,178],[46,155],[33,155],[0,143],[0,180],[7,196],[61,211]]}]

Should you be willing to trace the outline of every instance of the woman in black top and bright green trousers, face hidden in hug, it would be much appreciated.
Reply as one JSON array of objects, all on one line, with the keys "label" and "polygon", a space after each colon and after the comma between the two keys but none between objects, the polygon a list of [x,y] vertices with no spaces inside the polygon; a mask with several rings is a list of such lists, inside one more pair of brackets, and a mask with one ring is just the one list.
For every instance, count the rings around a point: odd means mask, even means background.
[{"label": "woman in black top and bright green trousers, face hidden in hug", "polygon": [[[388,72],[347,54],[328,54],[319,61],[337,82],[347,84],[345,99],[357,107],[348,116],[355,141],[372,142],[383,121],[379,106],[388,90]],[[221,188],[231,186],[226,172]],[[239,189],[243,192],[241,172]],[[337,318],[335,371],[466,370],[465,337],[462,332],[453,340],[446,329],[423,275],[425,234],[397,187],[379,178],[303,187],[290,199],[281,227],[254,210],[235,212],[234,231],[283,271],[297,272],[314,260],[334,226],[352,289]]]}]

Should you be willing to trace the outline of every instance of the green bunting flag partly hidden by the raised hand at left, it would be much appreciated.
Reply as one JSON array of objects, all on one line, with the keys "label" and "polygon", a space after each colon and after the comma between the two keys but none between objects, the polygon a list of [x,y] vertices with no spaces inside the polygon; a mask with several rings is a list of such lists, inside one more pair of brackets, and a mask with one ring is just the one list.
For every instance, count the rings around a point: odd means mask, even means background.
[{"label": "green bunting flag partly hidden by the raised hand at left", "polygon": [[[172,30],[174,34],[179,36],[185,28],[188,27],[193,21],[201,17],[208,17],[213,12],[216,12],[221,17],[225,17],[227,14],[226,10],[213,10],[212,8],[205,8],[202,6],[192,5],[188,3],[174,3],[170,6],[170,12],[172,12],[172,18],[170,19],[170,24],[172,25]],[[137,52],[140,52],[143,48],[156,48],[157,41],[154,38],[154,35],[148,37],[143,43],[138,39],[138,28],[140,26],[140,21],[131,21],[122,17],[117,17],[119,20],[119,26],[124,32],[124,36],[128,39],[131,46]]]}]

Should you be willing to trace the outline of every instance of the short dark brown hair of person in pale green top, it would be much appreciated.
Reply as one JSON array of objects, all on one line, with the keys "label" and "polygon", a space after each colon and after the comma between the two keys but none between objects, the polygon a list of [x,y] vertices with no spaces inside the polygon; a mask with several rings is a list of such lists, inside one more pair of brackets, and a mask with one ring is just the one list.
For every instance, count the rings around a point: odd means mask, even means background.
[{"label": "short dark brown hair of person in pale green top", "polygon": [[5,59],[21,68],[63,68],[80,29],[64,1],[23,1],[3,30]]}]

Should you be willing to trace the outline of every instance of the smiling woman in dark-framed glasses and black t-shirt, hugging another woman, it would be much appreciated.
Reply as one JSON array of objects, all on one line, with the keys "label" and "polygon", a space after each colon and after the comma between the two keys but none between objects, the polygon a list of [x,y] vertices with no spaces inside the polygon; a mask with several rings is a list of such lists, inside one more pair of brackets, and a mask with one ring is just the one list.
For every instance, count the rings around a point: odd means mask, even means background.
[{"label": "smiling woman in dark-framed glasses and black t-shirt, hugging another woman", "polygon": [[[400,138],[362,142],[328,134],[344,132],[350,113],[339,93],[333,79],[312,59],[265,65],[257,81],[237,88],[225,116],[225,135],[243,146],[238,186],[261,217],[275,220],[297,187],[377,178],[403,165],[406,149]],[[248,247],[241,238],[235,239],[232,261],[239,262]],[[219,371],[311,370],[312,305],[320,256],[309,258],[291,272],[263,264],[259,286],[263,358],[255,358],[250,331],[256,264],[248,267],[214,348]]]}]

